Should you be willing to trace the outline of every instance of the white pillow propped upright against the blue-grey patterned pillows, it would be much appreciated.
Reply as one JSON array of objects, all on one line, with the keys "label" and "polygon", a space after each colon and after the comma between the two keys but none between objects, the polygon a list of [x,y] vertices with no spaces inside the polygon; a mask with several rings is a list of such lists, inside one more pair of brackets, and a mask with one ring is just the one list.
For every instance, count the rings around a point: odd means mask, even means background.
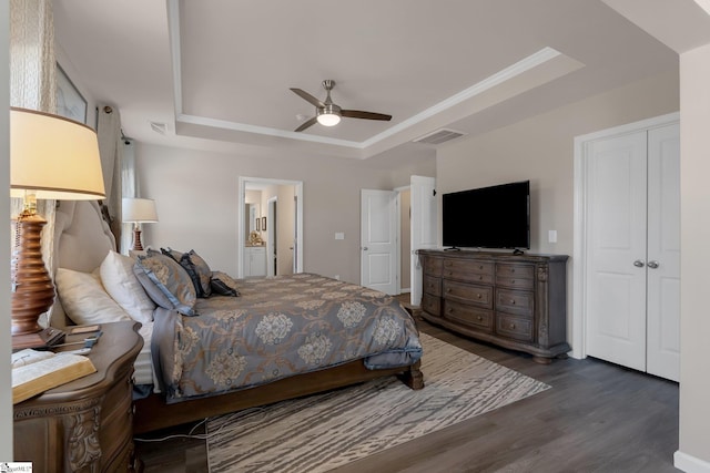
[{"label": "white pillow propped upright against the blue-grey patterned pillows", "polygon": [[133,274],[134,264],[135,260],[130,256],[109,251],[99,267],[101,282],[133,320],[148,323],[153,320],[156,306]]}]

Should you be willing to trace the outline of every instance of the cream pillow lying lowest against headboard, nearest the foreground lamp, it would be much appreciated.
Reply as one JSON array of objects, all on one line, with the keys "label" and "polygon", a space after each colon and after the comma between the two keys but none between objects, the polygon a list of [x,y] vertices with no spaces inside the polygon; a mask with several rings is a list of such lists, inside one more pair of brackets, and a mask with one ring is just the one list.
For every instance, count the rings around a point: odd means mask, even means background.
[{"label": "cream pillow lying lowest against headboard, nearest the foreground lamp", "polygon": [[103,289],[98,274],[59,268],[54,284],[64,312],[77,325],[131,320],[125,310]]}]

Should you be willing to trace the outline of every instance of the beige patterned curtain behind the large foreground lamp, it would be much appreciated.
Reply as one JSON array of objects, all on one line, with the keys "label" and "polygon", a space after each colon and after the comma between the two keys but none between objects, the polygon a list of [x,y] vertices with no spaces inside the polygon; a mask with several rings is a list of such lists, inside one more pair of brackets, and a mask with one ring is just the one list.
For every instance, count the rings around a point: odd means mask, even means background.
[{"label": "beige patterned curtain behind the large foreground lamp", "polygon": [[[42,112],[57,112],[57,60],[51,0],[10,1],[10,104]],[[22,210],[22,199],[12,199],[12,215]],[[47,219],[42,230],[42,255],[52,267],[54,200],[38,202]],[[13,240],[12,238],[11,240]]]}]

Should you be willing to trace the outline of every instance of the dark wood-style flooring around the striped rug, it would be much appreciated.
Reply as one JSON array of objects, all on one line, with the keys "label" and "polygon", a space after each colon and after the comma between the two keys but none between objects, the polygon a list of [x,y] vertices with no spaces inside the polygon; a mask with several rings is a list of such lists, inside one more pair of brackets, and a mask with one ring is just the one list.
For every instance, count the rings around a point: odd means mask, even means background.
[{"label": "dark wood-style flooring around the striped rug", "polygon": [[[532,358],[419,329],[551,385],[551,389],[334,470],[363,472],[678,472],[678,384],[596,359]],[[426,382],[426,372],[425,382]],[[425,388],[426,389],[426,388]],[[204,434],[182,425],[144,438]],[[207,472],[205,441],[135,442],[145,472]]]}]

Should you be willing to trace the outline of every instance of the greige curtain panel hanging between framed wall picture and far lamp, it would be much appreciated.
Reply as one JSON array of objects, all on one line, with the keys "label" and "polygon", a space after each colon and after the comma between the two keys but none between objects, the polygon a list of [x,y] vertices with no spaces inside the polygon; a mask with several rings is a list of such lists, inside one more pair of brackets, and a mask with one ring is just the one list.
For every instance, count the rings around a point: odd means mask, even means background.
[{"label": "greige curtain panel hanging between framed wall picture and far lamp", "polygon": [[98,113],[97,135],[101,169],[106,198],[102,203],[104,218],[108,214],[111,232],[116,244],[121,241],[121,196],[123,166],[123,136],[121,134],[121,115],[116,107],[100,105]]}]

